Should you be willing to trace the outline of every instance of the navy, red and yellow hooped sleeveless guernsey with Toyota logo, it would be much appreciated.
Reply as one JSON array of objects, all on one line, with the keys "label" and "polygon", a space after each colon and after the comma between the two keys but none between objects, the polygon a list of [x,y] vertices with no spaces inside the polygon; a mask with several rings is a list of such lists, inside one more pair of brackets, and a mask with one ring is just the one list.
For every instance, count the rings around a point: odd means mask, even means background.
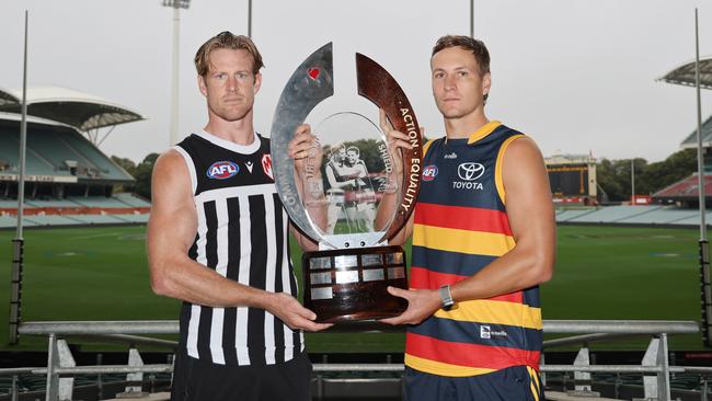
[{"label": "navy, red and yellow hooped sleeveless guernsey with Toyota logo", "polygon": [[[415,206],[411,288],[435,289],[475,274],[515,247],[502,159],[522,135],[490,122],[469,139],[426,144]],[[539,287],[458,302],[409,328],[405,365],[449,377],[510,366],[539,369]]]}]

